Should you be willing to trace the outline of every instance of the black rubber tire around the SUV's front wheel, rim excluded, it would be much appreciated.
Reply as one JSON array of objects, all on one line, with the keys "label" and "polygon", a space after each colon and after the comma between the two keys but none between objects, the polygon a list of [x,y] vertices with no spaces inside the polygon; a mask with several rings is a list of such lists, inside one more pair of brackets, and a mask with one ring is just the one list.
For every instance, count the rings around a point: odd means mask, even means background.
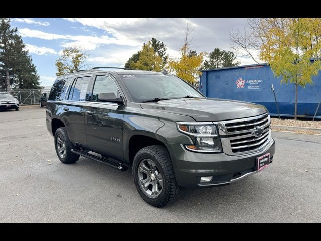
[{"label": "black rubber tire around the SUV's front wheel, rim excluded", "polygon": [[[142,190],[143,187],[140,184],[138,174],[140,163],[148,159],[156,164],[157,169],[159,169],[163,179],[162,190],[160,194],[154,198],[147,196],[147,194]],[[132,173],[139,195],[151,206],[163,207],[168,203],[175,201],[180,195],[181,188],[176,184],[172,161],[167,149],[164,146],[153,145],[140,149],[135,155]]]}]

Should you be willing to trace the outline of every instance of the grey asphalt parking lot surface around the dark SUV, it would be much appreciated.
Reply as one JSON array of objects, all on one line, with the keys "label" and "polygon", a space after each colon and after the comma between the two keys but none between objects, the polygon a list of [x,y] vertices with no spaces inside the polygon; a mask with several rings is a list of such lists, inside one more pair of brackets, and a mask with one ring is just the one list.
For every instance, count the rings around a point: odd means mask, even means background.
[{"label": "grey asphalt parking lot surface around the dark SUV", "polygon": [[183,189],[155,208],[120,172],[80,157],[61,163],[45,108],[0,112],[0,222],[320,222],[321,136],[272,132],[273,163],[228,186]]}]

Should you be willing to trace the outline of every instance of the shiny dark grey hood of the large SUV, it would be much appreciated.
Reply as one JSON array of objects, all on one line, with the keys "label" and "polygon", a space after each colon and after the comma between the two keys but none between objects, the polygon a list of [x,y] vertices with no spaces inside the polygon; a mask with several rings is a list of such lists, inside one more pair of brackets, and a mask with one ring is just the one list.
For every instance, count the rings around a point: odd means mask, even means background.
[{"label": "shiny dark grey hood of the large SUV", "polygon": [[191,116],[198,122],[225,121],[264,114],[263,105],[228,99],[190,98],[142,103],[143,109]]}]

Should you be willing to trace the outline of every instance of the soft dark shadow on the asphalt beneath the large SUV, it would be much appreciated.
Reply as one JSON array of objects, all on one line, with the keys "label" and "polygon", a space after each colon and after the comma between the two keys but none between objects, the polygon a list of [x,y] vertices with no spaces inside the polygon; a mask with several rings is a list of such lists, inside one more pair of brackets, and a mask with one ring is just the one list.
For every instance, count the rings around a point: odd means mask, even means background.
[{"label": "soft dark shadow on the asphalt beneath the large SUV", "polygon": [[[149,206],[140,198],[135,188],[131,166],[128,166],[127,171],[121,172],[83,157],[74,165],[90,166],[91,173],[88,175],[95,175],[96,178],[102,181],[101,183],[115,183],[115,185],[118,185],[117,194],[127,197],[127,202],[132,202],[135,205],[138,205],[138,202],[139,205],[148,207],[147,209],[151,208],[150,211],[154,209],[154,207]],[[162,209],[165,212],[173,213],[173,215],[177,213],[181,219],[182,215],[189,215],[191,212],[197,216],[206,216],[209,213],[226,215],[242,208],[251,209],[251,206],[264,208],[264,206],[269,205],[269,193],[273,192],[273,187],[269,187],[268,181],[268,179],[262,178],[259,174],[220,187],[182,188],[180,197]],[[195,209],[198,210],[197,214],[195,214]],[[179,212],[176,212],[177,210]]]}]

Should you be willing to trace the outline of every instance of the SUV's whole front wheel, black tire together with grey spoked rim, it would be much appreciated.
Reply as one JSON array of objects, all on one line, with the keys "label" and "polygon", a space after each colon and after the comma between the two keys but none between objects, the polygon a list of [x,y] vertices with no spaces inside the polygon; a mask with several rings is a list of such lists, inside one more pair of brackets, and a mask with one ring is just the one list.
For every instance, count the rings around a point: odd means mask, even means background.
[{"label": "SUV's whole front wheel, black tire together with grey spoked rim", "polygon": [[167,149],[161,145],[144,147],[133,161],[133,176],[142,199],[154,207],[163,207],[180,195]]}]

